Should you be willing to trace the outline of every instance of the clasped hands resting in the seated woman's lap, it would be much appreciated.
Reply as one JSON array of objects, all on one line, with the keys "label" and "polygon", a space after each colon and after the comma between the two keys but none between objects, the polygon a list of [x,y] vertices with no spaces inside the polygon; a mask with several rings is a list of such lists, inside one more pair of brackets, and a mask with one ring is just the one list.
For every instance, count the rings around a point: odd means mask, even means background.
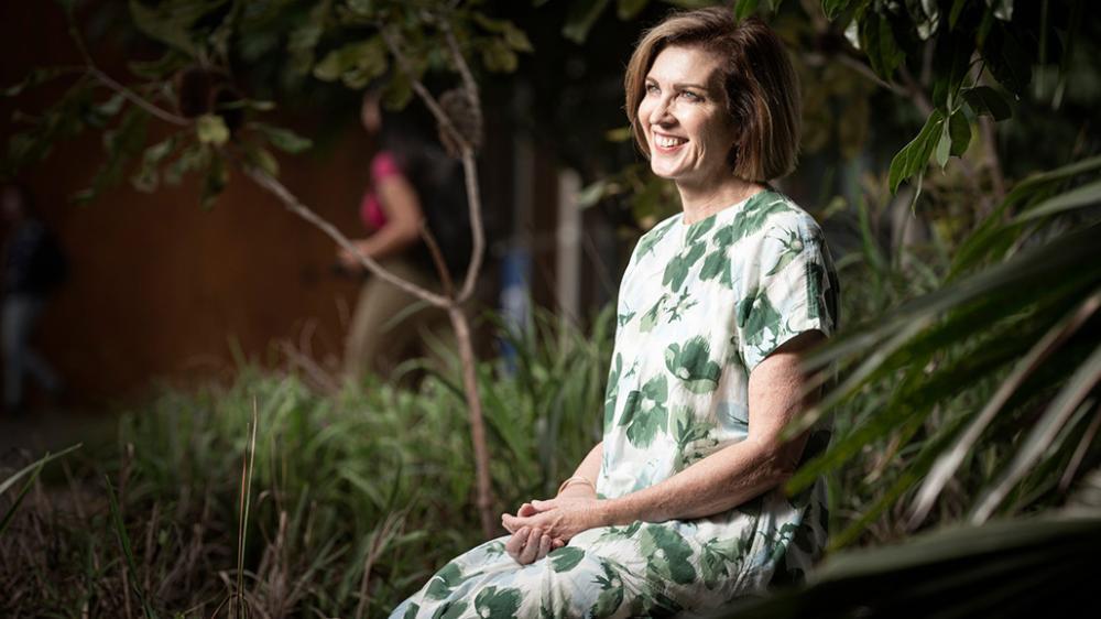
[{"label": "clasped hands resting in the seated woman's lap", "polygon": [[602,526],[600,507],[603,502],[596,496],[559,496],[524,503],[516,515],[501,515],[501,524],[512,533],[504,550],[521,565],[534,563],[565,546],[578,533]]}]

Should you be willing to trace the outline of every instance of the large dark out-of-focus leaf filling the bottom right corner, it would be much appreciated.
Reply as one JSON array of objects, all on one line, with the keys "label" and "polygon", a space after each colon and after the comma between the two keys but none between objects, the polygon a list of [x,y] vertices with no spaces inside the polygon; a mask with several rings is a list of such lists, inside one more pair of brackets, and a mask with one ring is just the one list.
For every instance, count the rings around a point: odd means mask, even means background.
[{"label": "large dark out-of-focus leaf filling the bottom right corner", "polygon": [[832,554],[806,585],[746,604],[738,617],[1029,617],[1087,608],[1098,552],[1097,515],[955,525]]}]

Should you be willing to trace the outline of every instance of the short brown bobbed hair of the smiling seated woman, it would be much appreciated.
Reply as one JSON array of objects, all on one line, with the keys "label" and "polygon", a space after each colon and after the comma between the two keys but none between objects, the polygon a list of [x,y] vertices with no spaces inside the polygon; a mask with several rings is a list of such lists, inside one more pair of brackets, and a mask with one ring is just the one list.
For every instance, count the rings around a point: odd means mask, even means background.
[{"label": "short brown bobbed hair of the smiling seated woman", "polygon": [[631,62],[623,86],[626,116],[634,139],[650,158],[650,145],[639,119],[645,96],[646,74],[654,58],[668,46],[699,47],[723,58],[727,111],[739,128],[730,163],[735,176],[765,182],[795,167],[799,150],[799,83],[787,50],[771,28],[757,18],[738,21],[731,9],[712,7],[674,13],[646,31]]}]

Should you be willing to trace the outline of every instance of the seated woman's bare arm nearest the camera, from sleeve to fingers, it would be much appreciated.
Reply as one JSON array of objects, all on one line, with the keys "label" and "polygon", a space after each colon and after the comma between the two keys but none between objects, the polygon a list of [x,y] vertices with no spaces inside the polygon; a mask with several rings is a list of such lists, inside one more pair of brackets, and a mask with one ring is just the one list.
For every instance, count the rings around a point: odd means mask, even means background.
[{"label": "seated woman's bare arm nearest the camera, from sleeve to fingers", "polygon": [[800,354],[821,341],[820,332],[796,336],[761,361],[750,376],[749,436],[668,479],[604,501],[534,501],[539,513],[505,519],[505,526],[537,526],[568,540],[595,526],[635,520],[662,522],[711,515],[783,484],[803,454],[806,434],[783,443],[784,426],[807,408]]}]

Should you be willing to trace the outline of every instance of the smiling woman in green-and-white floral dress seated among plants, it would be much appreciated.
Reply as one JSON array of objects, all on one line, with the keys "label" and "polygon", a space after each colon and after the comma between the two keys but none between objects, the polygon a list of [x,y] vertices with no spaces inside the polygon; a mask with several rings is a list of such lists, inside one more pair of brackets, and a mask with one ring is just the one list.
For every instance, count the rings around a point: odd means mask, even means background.
[{"label": "smiling woman in green-and-white floral dress seated among plants", "polygon": [[504,514],[510,536],[450,562],[395,617],[706,613],[805,571],[825,543],[824,486],[780,488],[820,448],[820,433],[780,436],[807,405],[800,354],[837,316],[820,229],[765,184],[798,144],[783,45],[729,9],[675,14],[625,85],[683,213],[642,237],[623,275],[603,441],[556,498]]}]

